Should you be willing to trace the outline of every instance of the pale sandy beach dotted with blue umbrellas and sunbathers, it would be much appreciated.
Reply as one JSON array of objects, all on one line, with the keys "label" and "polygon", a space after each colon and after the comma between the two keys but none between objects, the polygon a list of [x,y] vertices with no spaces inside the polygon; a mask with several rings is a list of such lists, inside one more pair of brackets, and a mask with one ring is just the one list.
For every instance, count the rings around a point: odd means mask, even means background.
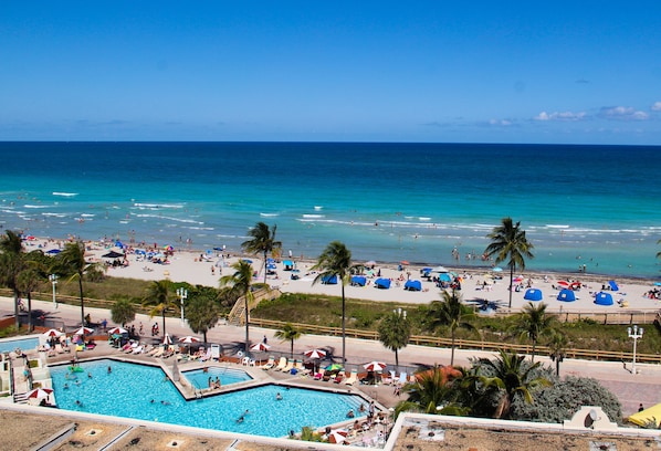
[{"label": "pale sandy beach dotted with blue umbrellas and sunbathers", "polygon": [[[41,245],[44,251],[56,247],[54,242],[46,240],[33,240],[28,243],[28,249]],[[188,282],[206,286],[218,286],[222,275],[232,273],[230,268],[239,259],[250,259],[255,272],[259,274],[255,282],[262,282],[263,263],[253,255],[224,255],[220,252],[209,254],[200,251],[176,250],[174,255],[168,258],[167,264],[154,263],[146,260],[143,255],[129,253],[126,258],[126,265],[107,265],[114,259],[104,259],[103,255],[111,251],[124,251],[116,247],[103,245],[98,242],[88,242],[90,262],[97,262],[107,268],[106,273],[109,276],[140,279],[148,281],[158,281],[170,279],[174,282]],[[122,261],[123,259],[115,259]],[[287,260],[287,259],[284,259]],[[300,279],[292,280],[292,272],[285,271],[281,262],[276,263],[275,274],[270,274],[266,282],[271,287],[279,289],[283,293],[313,293],[340,295],[339,285],[325,285],[322,283],[313,284],[316,274],[312,271],[315,261],[298,261],[291,259],[298,270],[296,273]],[[365,263],[365,262],[355,262]],[[376,302],[396,302],[401,304],[428,304],[431,301],[440,300],[440,290],[433,282],[422,279],[420,270],[422,266],[403,266],[400,271],[398,264],[379,263],[375,265],[375,276],[367,279],[366,286],[345,286],[346,296],[349,298],[369,300]],[[445,266],[449,271],[461,277],[461,296],[465,303],[484,302],[495,303],[499,308],[506,308],[508,304],[507,287],[510,285],[510,273],[507,269],[502,272],[494,272],[490,268],[458,268]],[[376,273],[380,271],[380,276],[391,280],[391,286],[388,290],[375,287]],[[436,274],[438,275],[438,274]],[[660,301],[650,297],[648,293],[651,290],[661,290],[661,286],[654,286],[653,280],[648,279],[617,279],[618,291],[607,290],[611,294],[613,305],[598,305],[594,302],[594,294],[602,291],[602,287],[609,287],[609,281],[612,277],[597,274],[559,274],[559,273],[515,273],[515,277],[521,282],[518,292],[512,295],[512,310],[517,311],[528,303],[524,298],[528,284],[532,287],[539,289],[543,293],[543,302],[548,304],[550,312],[595,312],[595,313],[621,313],[625,311],[655,313],[660,307]],[[502,279],[501,279],[502,277]],[[420,280],[421,291],[405,290],[407,280]],[[580,282],[580,290],[575,291],[576,301],[560,302],[557,300],[562,283],[574,281]],[[485,285],[486,282],[486,285]]]}]

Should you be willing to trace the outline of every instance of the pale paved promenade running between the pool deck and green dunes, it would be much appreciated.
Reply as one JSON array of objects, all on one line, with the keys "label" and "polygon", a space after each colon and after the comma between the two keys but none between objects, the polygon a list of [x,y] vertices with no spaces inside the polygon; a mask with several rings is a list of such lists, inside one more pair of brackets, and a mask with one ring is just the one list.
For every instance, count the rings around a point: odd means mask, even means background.
[{"label": "pale paved promenade running between the pool deck and green dunes", "polygon": [[[80,326],[81,310],[78,306],[60,304],[59,308],[53,308],[51,302],[33,302],[34,310],[42,310],[45,317],[50,321],[59,322],[57,324],[65,324],[67,327]],[[0,297],[0,316],[4,317],[11,314],[12,300],[9,297]],[[94,323],[106,318],[111,323],[111,315],[108,311],[102,308],[85,308],[85,313],[90,313]],[[149,318],[147,315],[137,315],[133,323],[136,329],[139,328],[139,323],[143,323],[145,332],[149,334],[150,325],[158,322],[161,326],[161,318]],[[183,336],[192,335],[188,326],[181,325],[178,318],[167,318],[166,328],[170,335]],[[162,331],[161,331],[162,333]],[[622,331],[625,333],[625,331]],[[269,344],[273,347],[271,352],[288,353],[290,343],[282,343],[274,338],[274,331],[259,327],[250,328],[251,340],[258,342],[265,335]],[[221,343],[223,347],[231,348],[239,346],[245,338],[245,328],[230,325],[220,325],[211,329],[208,334],[208,339],[211,343]],[[150,337],[147,337],[150,339]],[[644,338],[643,338],[644,339]],[[342,355],[342,338],[318,336],[318,335],[303,335],[294,344],[295,353],[303,353],[311,347],[322,347],[332,350],[339,359]],[[359,366],[367,361],[375,359],[385,360],[386,363],[394,363],[395,355],[392,352],[386,349],[379,342],[347,338],[347,367]],[[455,365],[469,365],[469,359],[473,357],[493,357],[493,353],[481,353],[475,350],[455,352]],[[554,365],[546,356],[537,356],[537,360],[545,365]],[[450,363],[449,348],[430,348],[424,346],[407,346],[399,352],[400,366],[416,367],[418,364],[442,364]],[[661,365],[638,364],[638,374],[631,373],[631,363],[627,364],[625,368],[621,363],[592,361],[592,360],[577,360],[566,359],[560,366],[560,375],[574,375],[581,377],[592,377],[598,379],[604,386],[608,387],[622,403],[622,415],[627,417],[638,410],[639,403],[644,407],[651,407],[661,402]]]}]

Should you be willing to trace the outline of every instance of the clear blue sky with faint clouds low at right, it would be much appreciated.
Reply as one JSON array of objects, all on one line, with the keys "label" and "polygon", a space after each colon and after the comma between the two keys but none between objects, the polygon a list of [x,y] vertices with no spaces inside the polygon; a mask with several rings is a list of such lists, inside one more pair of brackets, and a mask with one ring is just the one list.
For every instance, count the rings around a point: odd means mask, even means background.
[{"label": "clear blue sky with faint clouds low at right", "polygon": [[0,7],[0,140],[661,145],[661,2]]}]

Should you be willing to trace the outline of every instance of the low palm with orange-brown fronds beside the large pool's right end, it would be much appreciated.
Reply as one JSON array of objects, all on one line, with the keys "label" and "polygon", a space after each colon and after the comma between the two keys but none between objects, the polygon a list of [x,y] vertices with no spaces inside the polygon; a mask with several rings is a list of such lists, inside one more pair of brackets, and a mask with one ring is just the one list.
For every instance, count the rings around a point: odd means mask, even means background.
[{"label": "low palm with orange-brown fronds beside the large pool's right end", "polygon": [[460,390],[454,387],[454,379],[458,375],[461,371],[438,366],[416,375],[416,381],[403,387],[408,399],[397,405],[396,412],[466,415],[469,409],[457,402]]}]

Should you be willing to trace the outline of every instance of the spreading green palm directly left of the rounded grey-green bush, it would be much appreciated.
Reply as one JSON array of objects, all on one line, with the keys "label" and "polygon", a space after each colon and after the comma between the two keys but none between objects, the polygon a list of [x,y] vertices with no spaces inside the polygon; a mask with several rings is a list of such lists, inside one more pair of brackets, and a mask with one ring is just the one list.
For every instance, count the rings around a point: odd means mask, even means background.
[{"label": "spreading green palm directly left of the rounded grey-green bush", "polygon": [[484,377],[486,388],[497,388],[502,391],[494,418],[507,418],[512,401],[516,395],[523,396],[528,403],[533,402],[532,392],[538,387],[547,387],[550,381],[544,377],[533,377],[534,370],[541,366],[541,363],[526,365],[525,356],[516,353],[500,352],[495,360],[487,358],[480,359],[480,365],[487,369]]}]

